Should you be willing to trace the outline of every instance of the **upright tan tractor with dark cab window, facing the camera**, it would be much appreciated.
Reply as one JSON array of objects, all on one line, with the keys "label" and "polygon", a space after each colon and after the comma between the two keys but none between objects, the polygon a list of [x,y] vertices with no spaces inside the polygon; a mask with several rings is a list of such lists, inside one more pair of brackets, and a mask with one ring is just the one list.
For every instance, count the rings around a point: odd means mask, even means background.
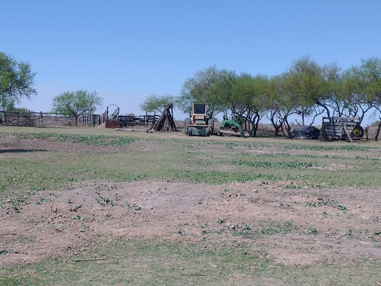
[{"label": "upright tan tractor with dark cab window, facing the camera", "polygon": [[207,114],[205,104],[192,104],[192,112],[184,120],[184,132],[188,136],[209,137],[214,132],[214,120]]}]

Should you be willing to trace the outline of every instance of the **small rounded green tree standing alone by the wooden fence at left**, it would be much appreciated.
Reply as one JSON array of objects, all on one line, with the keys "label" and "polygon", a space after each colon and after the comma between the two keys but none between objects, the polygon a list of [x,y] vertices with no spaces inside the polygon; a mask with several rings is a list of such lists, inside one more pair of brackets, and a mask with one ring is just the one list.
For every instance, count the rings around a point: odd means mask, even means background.
[{"label": "small rounded green tree standing alone by the wooden fence at left", "polygon": [[74,116],[77,125],[78,117],[84,113],[94,113],[102,105],[102,100],[96,91],[66,91],[53,98],[52,112]]}]

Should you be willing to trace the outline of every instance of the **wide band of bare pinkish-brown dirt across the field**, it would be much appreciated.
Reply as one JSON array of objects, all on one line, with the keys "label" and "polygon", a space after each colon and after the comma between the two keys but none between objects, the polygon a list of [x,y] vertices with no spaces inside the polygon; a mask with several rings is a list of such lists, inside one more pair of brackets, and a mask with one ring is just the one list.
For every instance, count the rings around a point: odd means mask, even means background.
[{"label": "wide band of bare pinkish-brown dirt across the field", "polygon": [[249,244],[284,264],[381,258],[381,189],[286,189],[167,180],[83,182],[0,209],[0,266],[86,252],[94,237]]}]

